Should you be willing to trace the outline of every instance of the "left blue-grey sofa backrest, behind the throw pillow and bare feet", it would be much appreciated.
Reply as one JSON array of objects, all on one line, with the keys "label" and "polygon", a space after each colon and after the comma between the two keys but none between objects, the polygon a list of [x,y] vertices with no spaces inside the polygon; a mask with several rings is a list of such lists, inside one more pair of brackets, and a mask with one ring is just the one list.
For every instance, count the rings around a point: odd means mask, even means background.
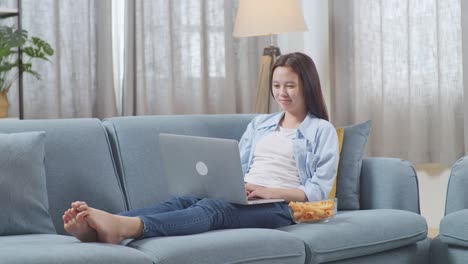
[{"label": "left blue-grey sofa backrest, behind the throw pillow and bare feet", "polygon": [[76,200],[112,213],[124,211],[125,200],[107,133],[98,119],[0,121],[0,133],[45,132],[45,172],[49,212],[55,229]]}]

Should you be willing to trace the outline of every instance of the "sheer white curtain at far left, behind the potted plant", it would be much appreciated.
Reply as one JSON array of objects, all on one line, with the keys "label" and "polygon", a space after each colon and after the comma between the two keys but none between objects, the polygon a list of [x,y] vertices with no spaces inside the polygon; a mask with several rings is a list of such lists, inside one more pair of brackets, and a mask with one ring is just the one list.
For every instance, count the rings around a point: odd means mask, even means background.
[{"label": "sheer white curtain at far left, behind the potted plant", "polygon": [[[16,8],[17,1],[0,0]],[[112,68],[111,0],[22,0],[22,28],[55,49],[50,62],[24,75],[24,117],[108,117],[117,114]],[[10,19],[10,18],[9,18]],[[14,19],[14,18],[13,18]],[[18,116],[17,85],[10,116]]]}]

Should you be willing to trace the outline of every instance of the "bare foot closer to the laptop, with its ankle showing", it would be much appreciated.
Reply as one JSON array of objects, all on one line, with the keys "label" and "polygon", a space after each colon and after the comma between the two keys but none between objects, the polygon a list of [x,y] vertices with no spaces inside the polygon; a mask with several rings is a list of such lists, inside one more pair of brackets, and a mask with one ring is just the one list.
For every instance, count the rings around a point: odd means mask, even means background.
[{"label": "bare foot closer to the laptop, with its ankle showing", "polygon": [[82,212],[87,213],[86,222],[96,230],[98,242],[120,244],[125,239],[138,238],[143,234],[143,222],[138,217],[114,215],[87,205]]}]

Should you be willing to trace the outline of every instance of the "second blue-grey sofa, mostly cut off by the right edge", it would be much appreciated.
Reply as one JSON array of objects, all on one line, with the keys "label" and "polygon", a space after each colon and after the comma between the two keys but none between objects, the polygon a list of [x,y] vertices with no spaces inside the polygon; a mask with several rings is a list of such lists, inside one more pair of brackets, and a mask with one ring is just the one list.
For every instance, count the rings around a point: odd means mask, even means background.
[{"label": "second blue-grey sofa, mostly cut off by the right edge", "polygon": [[459,159],[450,172],[445,216],[440,235],[431,243],[431,263],[464,264],[468,260],[468,156]]}]

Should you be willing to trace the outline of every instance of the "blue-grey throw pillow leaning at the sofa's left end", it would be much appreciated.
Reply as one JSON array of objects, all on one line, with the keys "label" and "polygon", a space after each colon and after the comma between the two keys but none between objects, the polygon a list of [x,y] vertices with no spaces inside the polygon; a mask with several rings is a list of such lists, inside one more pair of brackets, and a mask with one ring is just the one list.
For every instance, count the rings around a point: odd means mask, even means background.
[{"label": "blue-grey throw pillow leaning at the sofa's left end", "polygon": [[0,133],[0,236],[55,233],[44,141],[44,132]]}]

